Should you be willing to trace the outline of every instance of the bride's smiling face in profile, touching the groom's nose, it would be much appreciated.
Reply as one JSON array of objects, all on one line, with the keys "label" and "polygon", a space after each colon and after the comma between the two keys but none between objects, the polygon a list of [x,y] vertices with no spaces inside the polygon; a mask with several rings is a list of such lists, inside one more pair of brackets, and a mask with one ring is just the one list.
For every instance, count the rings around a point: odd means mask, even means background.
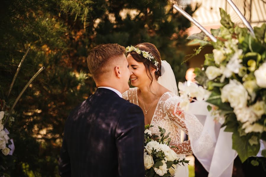
[{"label": "bride's smiling face in profile, touching the groom's nose", "polygon": [[131,85],[134,87],[142,87],[150,85],[151,80],[147,75],[145,65],[142,62],[137,62],[130,54],[127,55],[127,62],[130,71]]}]

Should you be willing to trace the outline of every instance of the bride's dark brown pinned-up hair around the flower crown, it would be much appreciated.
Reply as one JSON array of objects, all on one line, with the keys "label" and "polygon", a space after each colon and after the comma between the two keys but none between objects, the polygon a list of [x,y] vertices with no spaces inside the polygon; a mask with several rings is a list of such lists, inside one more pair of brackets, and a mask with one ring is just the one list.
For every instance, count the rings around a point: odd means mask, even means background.
[{"label": "bride's dark brown pinned-up hair around the flower crown", "polygon": [[[158,49],[155,47],[155,45],[149,42],[140,43],[138,45],[135,45],[134,47],[153,54],[153,57],[156,59],[156,61],[158,61],[157,65],[158,71],[155,72],[155,79],[158,80],[158,77],[161,76],[161,55]],[[150,60],[143,57],[142,55],[137,54],[137,52],[135,51],[131,51],[129,53],[134,58],[134,60],[136,60],[137,62],[142,62],[144,64],[148,77],[150,78],[151,81],[153,81],[151,68],[154,68],[155,70],[157,69],[154,63],[152,63]],[[129,55],[129,53],[127,53],[127,55]]]}]

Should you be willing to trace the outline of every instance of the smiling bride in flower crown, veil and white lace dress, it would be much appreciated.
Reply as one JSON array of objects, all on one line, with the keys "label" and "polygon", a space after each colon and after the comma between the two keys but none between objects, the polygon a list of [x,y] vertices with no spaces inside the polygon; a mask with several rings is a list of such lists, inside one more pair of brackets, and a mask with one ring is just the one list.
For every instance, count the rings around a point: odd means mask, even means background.
[{"label": "smiling bride in flower crown, veil and white lace dress", "polygon": [[[145,125],[150,124],[153,134],[160,135],[158,126],[171,132],[171,145],[176,146],[179,158],[191,154],[193,150],[211,148],[210,137],[205,142],[194,143],[202,134],[203,126],[194,115],[179,109],[182,102],[178,96],[177,86],[171,66],[161,61],[160,53],[155,45],[141,43],[126,48],[129,63],[130,81],[134,88],[123,93],[123,98],[141,107],[145,116]],[[189,130],[188,130],[189,128]],[[181,142],[181,130],[190,136],[190,140]],[[193,136],[193,138],[191,137]],[[188,177],[187,164],[177,165],[176,176]]]}]

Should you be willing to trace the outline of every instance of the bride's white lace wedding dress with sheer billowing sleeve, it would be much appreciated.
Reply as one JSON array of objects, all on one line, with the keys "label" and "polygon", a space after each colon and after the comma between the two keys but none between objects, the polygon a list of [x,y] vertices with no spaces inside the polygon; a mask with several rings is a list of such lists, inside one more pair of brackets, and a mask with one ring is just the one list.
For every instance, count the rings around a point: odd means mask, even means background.
[{"label": "bride's white lace wedding dress with sheer billowing sleeve", "polygon": [[[138,104],[137,88],[131,88],[123,93],[123,98],[131,103]],[[176,146],[176,154],[180,159],[185,158],[185,155],[191,154],[193,151],[201,151],[211,148],[213,142],[207,134],[202,133],[203,126],[199,120],[191,114],[183,112],[175,114],[175,107],[182,99],[172,92],[164,93],[158,101],[153,118],[151,120],[150,130],[153,134],[160,135],[158,126],[164,128],[166,132],[171,132],[171,145]],[[190,136],[190,140],[181,142],[181,130]],[[204,136],[202,136],[204,135]],[[200,139],[200,140],[199,140]],[[185,164],[177,165],[175,176],[188,177],[188,166]]]}]

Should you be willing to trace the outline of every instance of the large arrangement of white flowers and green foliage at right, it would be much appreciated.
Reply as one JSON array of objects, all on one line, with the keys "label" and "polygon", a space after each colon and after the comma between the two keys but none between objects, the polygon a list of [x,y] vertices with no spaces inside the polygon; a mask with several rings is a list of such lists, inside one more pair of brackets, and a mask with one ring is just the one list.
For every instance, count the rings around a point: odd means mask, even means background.
[{"label": "large arrangement of white flowers and green foliage at right", "polygon": [[[179,84],[186,100],[180,106],[186,108],[193,98],[213,105],[208,110],[223,119],[224,131],[233,132],[232,148],[244,162],[257,155],[260,139],[266,141],[266,24],[255,27],[253,37],[247,28],[235,26],[223,9],[220,14],[222,26],[211,30],[217,42],[210,42],[203,33],[189,37],[192,43],[200,43],[193,55],[206,45],[214,49],[205,54],[203,68],[194,71],[201,86]],[[262,155],[266,156],[266,150]]]}]

